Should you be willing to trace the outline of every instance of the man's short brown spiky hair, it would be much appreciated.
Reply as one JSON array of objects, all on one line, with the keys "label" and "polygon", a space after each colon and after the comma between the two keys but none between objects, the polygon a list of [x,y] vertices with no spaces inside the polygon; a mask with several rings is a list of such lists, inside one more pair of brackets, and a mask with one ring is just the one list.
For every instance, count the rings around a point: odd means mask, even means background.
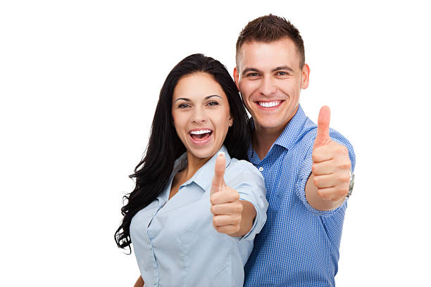
[{"label": "man's short brown spiky hair", "polygon": [[250,21],[246,27],[239,33],[237,39],[237,65],[238,54],[241,46],[248,42],[270,43],[282,38],[291,39],[299,54],[299,68],[304,67],[305,52],[304,41],[298,29],[285,18],[269,14]]}]

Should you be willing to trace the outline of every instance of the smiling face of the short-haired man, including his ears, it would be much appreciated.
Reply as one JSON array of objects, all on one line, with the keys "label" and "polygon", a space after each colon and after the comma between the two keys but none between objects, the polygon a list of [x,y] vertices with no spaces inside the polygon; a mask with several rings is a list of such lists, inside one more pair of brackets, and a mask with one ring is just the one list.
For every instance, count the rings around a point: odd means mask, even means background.
[{"label": "smiling face of the short-haired man, including his ears", "polygon": [[256,130],[280,132],[296,113],[299,93],[308,87],[308,65],[289,38],[243,44],[234,70],[235,83]]}]

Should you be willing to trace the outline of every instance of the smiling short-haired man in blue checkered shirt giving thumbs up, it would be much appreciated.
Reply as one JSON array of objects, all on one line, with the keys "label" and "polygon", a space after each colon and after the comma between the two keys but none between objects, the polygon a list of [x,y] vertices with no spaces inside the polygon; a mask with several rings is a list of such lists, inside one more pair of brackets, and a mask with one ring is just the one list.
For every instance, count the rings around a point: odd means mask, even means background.
[{"label": "smiling short-haired man in blue checkered shirt giving thumbs up", "polygon": [[285,18],[266,15],[237,40],[234,78],[253,117],[249,160],[265,178],[268,219],[254,241],[244,286],[335,286],[354,150],[299,105],[309,82],[304,42]]}]

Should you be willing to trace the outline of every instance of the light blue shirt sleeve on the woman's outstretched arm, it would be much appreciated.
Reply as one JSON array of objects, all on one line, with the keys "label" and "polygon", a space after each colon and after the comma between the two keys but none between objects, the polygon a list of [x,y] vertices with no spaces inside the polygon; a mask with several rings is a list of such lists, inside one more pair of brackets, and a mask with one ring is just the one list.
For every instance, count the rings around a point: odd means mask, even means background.
[{"label": "light blue shirt sleeve on the woman's outstretched arm", "polygon": [[249,201],[256,209],[253,226],[246,235],[240,236],[238,239],[240,241],[251,241],[254,240],[254,237],[261,231],[266,222],[268,201],[266,200],[265,181],[261,172],[250,162],[240,160],[234,168],[235,171],[232,170],[232,172],[235,172],[236,176],[232,178],[228,185],[238,191],[240,200]]}]

